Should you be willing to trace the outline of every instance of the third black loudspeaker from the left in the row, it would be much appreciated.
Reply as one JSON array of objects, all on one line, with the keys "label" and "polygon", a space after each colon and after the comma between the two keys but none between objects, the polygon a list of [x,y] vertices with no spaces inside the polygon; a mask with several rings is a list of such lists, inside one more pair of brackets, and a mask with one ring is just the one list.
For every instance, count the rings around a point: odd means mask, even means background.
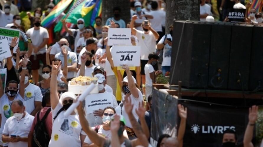
[{"label": "third black loudspeaker from the left in the row", "polygon": [[228,89],[248,90],[253,25],[233,25]]}]

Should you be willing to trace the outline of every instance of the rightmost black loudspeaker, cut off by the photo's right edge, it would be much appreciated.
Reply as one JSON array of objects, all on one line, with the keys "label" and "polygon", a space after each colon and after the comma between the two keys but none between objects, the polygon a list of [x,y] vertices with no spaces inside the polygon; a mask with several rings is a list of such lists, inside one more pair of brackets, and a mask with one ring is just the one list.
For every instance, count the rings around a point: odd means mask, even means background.
[{"label": "rightmost black loudspeaker, cut off by the photo's right edge", "polygon": [[249,90],[257,91],[263,86],[263,25],[253,27]]}]

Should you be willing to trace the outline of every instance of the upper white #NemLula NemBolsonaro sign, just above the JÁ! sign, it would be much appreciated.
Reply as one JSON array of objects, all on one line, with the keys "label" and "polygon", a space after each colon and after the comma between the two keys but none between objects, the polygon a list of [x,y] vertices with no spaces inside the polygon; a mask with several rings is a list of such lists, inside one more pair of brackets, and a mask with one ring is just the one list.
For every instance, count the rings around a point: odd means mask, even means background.
[{"label": "upper white #NemLula NemBolsonaro sign, just above the J\u00c1! sign", "polygon": [[109,28],[108,45],[131,45],[130,28]]}]

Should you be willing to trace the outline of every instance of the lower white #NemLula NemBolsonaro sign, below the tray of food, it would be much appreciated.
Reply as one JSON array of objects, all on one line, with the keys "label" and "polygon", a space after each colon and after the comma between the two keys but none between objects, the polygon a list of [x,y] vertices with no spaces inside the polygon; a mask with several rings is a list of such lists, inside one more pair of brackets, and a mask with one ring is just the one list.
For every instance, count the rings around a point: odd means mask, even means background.
[{"label": "lower white #NemLula NemBolsonaro sign, below the tray of food", "polygon": [[90,94],[85,98],[86,114],[93,113],[94,110],[104,109],[108,106],[113,107],[112,94],[98,93]]}]

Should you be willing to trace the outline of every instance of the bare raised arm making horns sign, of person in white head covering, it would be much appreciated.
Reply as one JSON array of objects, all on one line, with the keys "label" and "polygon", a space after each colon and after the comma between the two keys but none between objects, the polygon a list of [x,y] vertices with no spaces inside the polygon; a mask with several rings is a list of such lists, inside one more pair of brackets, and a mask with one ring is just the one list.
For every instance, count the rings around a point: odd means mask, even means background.
[{"label": "bare raised arm making horns sign, of person in white head covering", "polygon": [[50,103],[51,108],[55,109],[57,104],[59,103],[58,97],[58,82],[57,82],[57,74],[59,72],[59,67],[61,66],[61,62],[58,65],[54,65],[52,62],[52,70],[51,70],[51,78],[50,78]]}]

